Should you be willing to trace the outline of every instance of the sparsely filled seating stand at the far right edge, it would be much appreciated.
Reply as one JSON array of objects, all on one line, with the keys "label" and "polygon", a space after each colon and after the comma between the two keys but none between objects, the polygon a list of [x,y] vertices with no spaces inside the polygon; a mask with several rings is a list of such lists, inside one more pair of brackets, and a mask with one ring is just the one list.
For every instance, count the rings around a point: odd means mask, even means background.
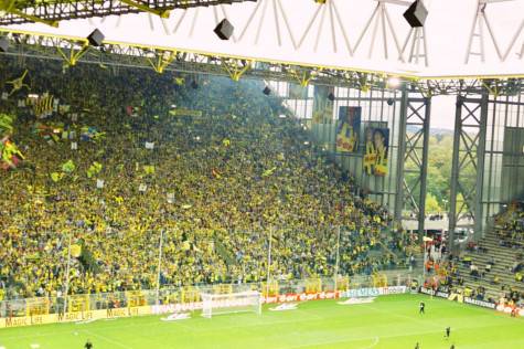
[{"label": "sparsely filled seating stand at the far right edge", "polygon": [[[440,271],[438,284],[443,289],[478,300],[524,305],[524,256],[522,253],[523,204],[514,202],[494,216],[493,230],[479,242],[469,242],[464,251],[449,255]],[[521,248],[521,250],[520,250]],[[429,269],[428,269],[429,271]],[[434,271],[431,271],[434,272]]]}]

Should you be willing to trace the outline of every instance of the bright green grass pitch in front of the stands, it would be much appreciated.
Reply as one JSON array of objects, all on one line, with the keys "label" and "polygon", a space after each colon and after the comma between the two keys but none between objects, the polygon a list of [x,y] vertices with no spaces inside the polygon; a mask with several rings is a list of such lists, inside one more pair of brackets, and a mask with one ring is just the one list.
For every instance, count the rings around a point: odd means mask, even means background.
[{"label": "bright green grass pitch in front of the stands", "polygon": [[[418,303],[426,302],[426,315]],[[272,306],[269,306],[272,307]],[[0,329],[6,349],[83,348],[354,348],[523,349],[524,319],[421,295],[376,298],[372,304],[301,303],[297,310],[231,314],[165,322],[161,316]],[[445,328],[451,327],[451,338]]]}]

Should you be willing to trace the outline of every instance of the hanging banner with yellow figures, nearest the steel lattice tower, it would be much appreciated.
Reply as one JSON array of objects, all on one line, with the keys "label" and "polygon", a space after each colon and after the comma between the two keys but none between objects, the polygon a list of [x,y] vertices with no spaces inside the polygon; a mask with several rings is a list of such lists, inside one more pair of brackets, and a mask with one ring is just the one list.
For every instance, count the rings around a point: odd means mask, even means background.
[{"label": "hanging banner with yellow figures, nearest the steel lattice tower", "polygon": [[389,128],[367,127],[365,133],[364,172],[368,176],[387,174]]}]

